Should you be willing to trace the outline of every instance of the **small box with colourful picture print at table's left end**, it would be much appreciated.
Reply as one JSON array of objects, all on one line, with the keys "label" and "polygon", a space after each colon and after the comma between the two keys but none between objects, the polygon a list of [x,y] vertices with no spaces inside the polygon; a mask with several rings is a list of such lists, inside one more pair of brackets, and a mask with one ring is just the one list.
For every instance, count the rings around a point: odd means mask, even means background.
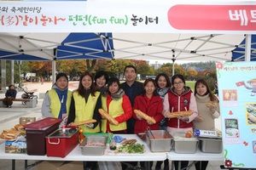
[{"label": "small box with colourful picture print at table's left end", "polygon": [[26,154],[26,141],[5,141],[5,153]]}]

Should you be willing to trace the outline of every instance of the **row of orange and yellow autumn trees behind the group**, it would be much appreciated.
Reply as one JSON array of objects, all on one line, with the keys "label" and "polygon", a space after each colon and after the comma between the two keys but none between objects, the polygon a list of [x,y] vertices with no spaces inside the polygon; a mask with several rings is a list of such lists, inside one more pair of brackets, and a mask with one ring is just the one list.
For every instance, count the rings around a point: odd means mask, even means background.
[{"label": "row of orange and yellow autumn trees behind the group", "polygon": [[[73,80],[73,77],[79,77],[84,71],[90,71],[96,73],[96,71],[108,71],[111,77],[123,77],[125,65],[135,65],[137,67],[137,73],[141,75],[141,79],[145,79],[146,76],[156,76],[157,74],[164,72],[168,76],[172,77],[172,65],[173,63],[166,63],[162,65],[158,70],[154,70],[153,67],[148,65],[148,61],[141,59],[68,59],[57,60],[56,71],[65,72]],[[203,65],[203,64],[201,64]],[[186,65],[174,64],[175,74],[182,74],[186,80],[194,80],[198,78],[212,77],[212,80],[216,78],[216,70],[212,63],[205,65],[211,65],[212,69],[205,69],[204,71],[195,71]],[[195,66],[196,67],[196,66]],[[186,69],[189,68],[189,69]],[[36,73],[37,79],[44,77],[49,80],[52,74],[52,62],[51,61],[22,61],[20,65],[21,73],[25,76],[28,72]],[[208,76],[209,75],[209,76]],[[19,79],[17,65],[15,65],[15,82]]]}]

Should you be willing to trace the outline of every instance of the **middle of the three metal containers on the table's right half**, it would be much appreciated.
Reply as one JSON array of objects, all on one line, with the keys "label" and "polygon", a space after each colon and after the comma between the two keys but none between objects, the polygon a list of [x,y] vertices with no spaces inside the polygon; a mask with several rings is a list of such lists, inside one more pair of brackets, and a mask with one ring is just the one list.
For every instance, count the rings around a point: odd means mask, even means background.
[{"label": "middle of the three metal containers on the table's right half", "polygon": [[192,135],[186,138],[185,133],[172,133],[173,149],[177,154],[194,154],[198,148],[199,140]]}]

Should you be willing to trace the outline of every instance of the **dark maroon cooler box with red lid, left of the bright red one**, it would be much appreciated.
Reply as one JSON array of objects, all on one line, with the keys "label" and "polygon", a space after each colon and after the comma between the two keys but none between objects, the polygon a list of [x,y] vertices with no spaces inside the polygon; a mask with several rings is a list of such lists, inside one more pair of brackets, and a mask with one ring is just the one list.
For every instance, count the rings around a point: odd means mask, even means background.
[{"label": "dark maroon cooler box with red lid, left of the bright red one", "polygon": [[26,128],[27,155],[44,156],[46,154],[45,137],[59,128],[62,119],[47,117],[24,125]]}]

